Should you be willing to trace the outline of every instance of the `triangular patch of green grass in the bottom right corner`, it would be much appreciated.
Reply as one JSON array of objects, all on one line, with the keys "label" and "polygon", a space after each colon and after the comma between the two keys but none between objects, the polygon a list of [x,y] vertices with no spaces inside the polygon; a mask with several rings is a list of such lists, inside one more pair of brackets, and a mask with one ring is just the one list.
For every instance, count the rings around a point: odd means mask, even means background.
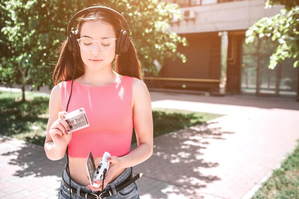
[{"label": "triangular patch of green grass in the bottom right corner", "polygon": [[299,199],[299,143],[281,167],[263,183],[254,199]]}]

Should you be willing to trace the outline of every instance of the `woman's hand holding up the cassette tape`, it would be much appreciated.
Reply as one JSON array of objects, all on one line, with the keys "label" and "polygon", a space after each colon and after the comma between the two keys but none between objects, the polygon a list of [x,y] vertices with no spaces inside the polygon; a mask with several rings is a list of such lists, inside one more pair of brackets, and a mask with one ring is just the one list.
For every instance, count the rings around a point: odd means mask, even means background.
[{"label": "woman's hand holding up the cassette tape", "polygon": [[66,114],[66,111],[60,111],[58,113],[58,119],[53,122],[49,131],[49,135],[54,144],[59,147],[67,147],[72,138],[72,133],[68,134],[67,131],[70,130],[68,123],[62,119],[62,116]]}]

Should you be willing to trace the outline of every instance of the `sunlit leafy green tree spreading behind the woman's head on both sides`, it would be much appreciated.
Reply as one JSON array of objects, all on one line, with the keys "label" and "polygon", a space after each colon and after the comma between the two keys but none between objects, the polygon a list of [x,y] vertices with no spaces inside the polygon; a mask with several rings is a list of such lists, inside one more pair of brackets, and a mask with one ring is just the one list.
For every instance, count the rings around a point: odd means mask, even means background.
[{"label": "sunlit leafy green tree spreading behind the woman's head on both sides", "polygon": [[[102,0],[100,3],[118,10],[127,19],[146,71],[158,73],[155,60],[160,65],[165,58],[186,61],[176,51],[179,44],[187,45],[186,39],[167,30],[172,15],[181,17],[177,4],[158,0]],[[55,51],[66,39],[67,24],[73,14],[91,5],[91,0],[4,0],[1,8],[8,17],[1,28],[0,45],[10,47],[10,53],[5,53],[0,60],[0,72],[9,74],[9,78],[0,75],[1,82],[9,79],[22,84],[22,100],[25,100],[26,84],[31,84],[32,90],[44,85],[50,88],[51,66],[59,56]]]}]

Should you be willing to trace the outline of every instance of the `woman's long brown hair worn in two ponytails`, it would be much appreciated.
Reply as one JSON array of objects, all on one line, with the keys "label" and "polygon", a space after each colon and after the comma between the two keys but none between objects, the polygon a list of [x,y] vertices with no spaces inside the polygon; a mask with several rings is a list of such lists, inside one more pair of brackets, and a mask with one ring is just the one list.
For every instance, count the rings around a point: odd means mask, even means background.
[{"label": "woman's long brown hair worn in two ponytails", "polygon": [[[78,23],[76,28],[80,30],[82,24],[85,21],[97,21],[97,20],[105,20],[113,26],[115,34],[119,35],[122,24],[120,19],[115,17],[110,13],[106,13],[104,11],[90,11],[87,14],[82,15],[81,17],[77,18]],[[69,51],[67,40],[61,43],[60,48],[58,49],[57,53],[59,53],[59,58],[57,65],[54,68],[52,80],[54,85],[57,85],[60,80],[68,81],[72,80],[74,74],[74,66],[75,60],[73,58],[72,53]],[[122,55],[116,55],[115,59],[113,60],[113,69],[121,75],[135,77],[138,79],[142,79],[142,71],[141,71],[141,62],[138,59],[137,50],[134,46],[134,43],[131,39],[131,43],[127,52],[122,52]],[[76,72],[74,79],[84,75],[85,68],[84,63],[81,59],[81,56],[76,57]]]}]

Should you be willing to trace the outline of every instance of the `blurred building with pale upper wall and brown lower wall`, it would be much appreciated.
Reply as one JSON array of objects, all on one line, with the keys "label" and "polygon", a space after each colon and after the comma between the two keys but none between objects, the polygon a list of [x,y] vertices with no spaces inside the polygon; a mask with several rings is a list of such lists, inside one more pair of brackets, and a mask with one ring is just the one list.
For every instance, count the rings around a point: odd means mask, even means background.
[{"label": "blurred building with pale upper wall and brown lower wall", "polygon": [[205,91],[211,94],[282,96],[299,100],[299,67],[288,59],[268,69],[274,44],[256,39],[245,44],[245,32],[283,6],[265,9],[265,0],[168,0],[180,5],[183,19],[172,31],[186,37],[178,46],[187,61],[165,60],[158,77],[145,75],[149,88]]}]

